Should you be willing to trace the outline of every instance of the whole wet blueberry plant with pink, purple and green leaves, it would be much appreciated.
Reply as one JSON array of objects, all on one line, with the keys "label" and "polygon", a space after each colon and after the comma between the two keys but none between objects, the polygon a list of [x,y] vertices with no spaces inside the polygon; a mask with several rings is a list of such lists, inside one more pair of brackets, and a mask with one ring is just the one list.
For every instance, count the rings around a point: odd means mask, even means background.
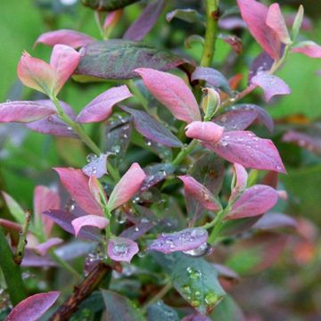
[{"label": "whole wet blueberry plant with pink, purple and green leaves", "polygon": [[[321,47],[299,35],[303,7],[289,20],[279,4],[256,0],[232,6],[204,0],[199,11],[164,0],[82,2],[91,8],[82,10],[95,13],[102,38],[71,29],[42,34],[36,45],[53,47],[50,62],[24,52],[17,68],[21,83],[41,99],[0,104],[1,123],[69,137],[87,152],[78,168],[53,168],[61,188],[37,185],[30,210],[3,191],[12,220],[0,218],[0,267],[9,296],[1,316],[245,320],[229,294],[240,281],[233,248],[248,241],[252,254],[240,264],[264,265],[271,249],[260,242],[272,243],[271,260],[296,228],[293,218],[272,210],[286,201],[278,185],[286,169],[269,139],[274,121],[251,95],[262,91],[265,102],[290,95],[276,76],[288,56],[321,58]],[[112,38],[134,3],[141,15],[121,38]],[[143,41],[163,12],[164,26],[184,21],[204,30],[185,39],[186,46],[202,46],[199,61]],[[248,70],[236,73],[251,37],[261,51]],[[217,41],[231,46],[226,62],[216,62]],[[92,86],[105,81],[108,89],[77,114],[59,97],[70,78]],[[294,130],[284,141],[317,149],[312,137]],[[49,284],[62,270],[64,281],[32,293],[21,272],[28,268],[45,269],[41,277]]]}]

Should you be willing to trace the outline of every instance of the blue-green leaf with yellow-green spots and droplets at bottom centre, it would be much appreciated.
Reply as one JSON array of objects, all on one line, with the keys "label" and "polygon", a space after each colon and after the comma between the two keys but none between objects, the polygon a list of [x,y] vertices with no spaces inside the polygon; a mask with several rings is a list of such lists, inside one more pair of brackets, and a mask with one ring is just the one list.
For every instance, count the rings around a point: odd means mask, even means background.
[{"label": "blue-green leaf with yellow-green spots and droplets at bottom centre", "polygon": [[205,259],[182,255],[171,279],[177,292],[202,314],[209,313],[226,295],[218,283],[217,270]]}]

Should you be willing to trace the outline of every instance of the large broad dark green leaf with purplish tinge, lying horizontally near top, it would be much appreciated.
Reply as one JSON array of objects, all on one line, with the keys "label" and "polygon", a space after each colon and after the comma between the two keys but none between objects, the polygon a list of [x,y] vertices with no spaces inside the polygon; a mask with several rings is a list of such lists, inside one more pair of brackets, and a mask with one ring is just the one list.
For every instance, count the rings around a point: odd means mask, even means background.
[{"label": "large broad dark green leaf with purplish tinge, lying horizontally near top", "polygon": [[167,50],[135,41],[112,39],[96,41],[82,48],[82,57],[74,78],[85,75],[103,79],[137,77],[136,68],[169,70],[187,63]]}]

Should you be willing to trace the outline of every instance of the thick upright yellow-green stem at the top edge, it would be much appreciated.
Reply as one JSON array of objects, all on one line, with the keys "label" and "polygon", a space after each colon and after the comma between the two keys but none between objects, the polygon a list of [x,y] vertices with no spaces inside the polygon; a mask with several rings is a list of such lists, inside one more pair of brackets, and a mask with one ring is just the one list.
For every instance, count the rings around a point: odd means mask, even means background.
[{"label": "thick upright yellow-green stem at the top edge", "polygon": [[202,67],[210,67],[213,62],[218,35],[218,2],[219,0],[206,0],[206,31],[201,59]]}]

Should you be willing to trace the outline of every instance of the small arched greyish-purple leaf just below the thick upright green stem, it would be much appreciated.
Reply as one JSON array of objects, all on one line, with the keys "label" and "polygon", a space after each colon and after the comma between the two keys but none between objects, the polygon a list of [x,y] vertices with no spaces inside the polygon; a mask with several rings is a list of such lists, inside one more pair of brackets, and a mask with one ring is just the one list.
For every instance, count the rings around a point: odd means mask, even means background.
[{"label": "small arched greyish-purple leaf just below the thick upright green stem", "polygon": [[231,92],[227,79],[218,70],[213,68],[197,67],[193,71],[191,80],[205,80],[210,86],[219,88],[226,93]]}]

